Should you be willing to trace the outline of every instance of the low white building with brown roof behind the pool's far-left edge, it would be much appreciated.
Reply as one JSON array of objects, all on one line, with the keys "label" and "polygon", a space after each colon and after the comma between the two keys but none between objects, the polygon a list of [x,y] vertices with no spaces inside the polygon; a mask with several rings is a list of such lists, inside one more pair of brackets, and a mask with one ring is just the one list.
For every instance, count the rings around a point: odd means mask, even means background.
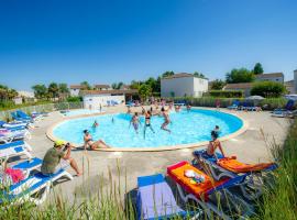
[{"label": "low white building with brown roof behind the pool's far-left edge", "polygon": [[138,90],[84,90],[81,91],[84,107],[86,109],[99,109],[100,106],[112,103],[124,105]]}]

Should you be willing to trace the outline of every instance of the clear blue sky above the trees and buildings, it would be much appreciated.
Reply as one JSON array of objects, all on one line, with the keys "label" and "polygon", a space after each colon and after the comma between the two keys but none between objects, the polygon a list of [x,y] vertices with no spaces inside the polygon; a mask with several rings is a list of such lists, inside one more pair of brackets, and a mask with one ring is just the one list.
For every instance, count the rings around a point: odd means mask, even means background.
[{"label": "clear blue sky above the trees and buildings", "polygon": [[130,82],[165,70],[224,78],[297,68],[296,0],[2,0],[0,84]]}]

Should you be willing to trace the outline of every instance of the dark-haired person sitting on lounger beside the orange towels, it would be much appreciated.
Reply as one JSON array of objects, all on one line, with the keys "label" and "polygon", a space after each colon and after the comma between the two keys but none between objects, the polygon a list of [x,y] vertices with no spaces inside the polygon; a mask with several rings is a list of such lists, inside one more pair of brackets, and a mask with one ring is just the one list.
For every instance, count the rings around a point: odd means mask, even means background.
[{"label": "dark-haired person sitting on lounger beside the orange towels", "polygon": [[219,136],[218,132],[211,131],[211,141],[209,142],[207,150],[194,151],[193,152],[194,157],[197,158],[198,161],[200,161],[200,157],[217,158],[217,155],[216,155],[217,148],[220,150],[221,154],[224,157],[224,152],[222,150],[220,141],[218,140],[218,136]]}]

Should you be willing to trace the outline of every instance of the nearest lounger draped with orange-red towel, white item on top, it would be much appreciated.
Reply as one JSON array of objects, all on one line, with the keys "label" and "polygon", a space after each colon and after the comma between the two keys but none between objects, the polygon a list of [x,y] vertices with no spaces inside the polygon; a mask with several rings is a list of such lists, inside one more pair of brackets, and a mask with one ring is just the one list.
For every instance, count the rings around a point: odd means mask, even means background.
[{"label": "nearest lounger draped with orange-red towel, white item on top", "polygon": [[[202,176],[205,180],[202,183],[193,182],[193,178],[185,175],[187,170],[195,172],[200,177]],[[222,219],[231,220],[231,218],[226,215],[221,208],[219,208],[218,201],[216,201],[218,198],[224,196],[229,197],[229,201],[233,207],[244,207],[246,210],[245,212],[240,210],[242,216],[250,216],[253,213],[253,207],[251,205],[228,190],[229,187],[243,183],[245,175],[224,177],[220,180],[215,180],[202,170],[191,166],[188,162],[179,162],[167,167],[167,174],[175,180],[179,196],[184,202],[187,202],[189,199],[197,201],[209,218],[212,218],[211,211],[215,211]],[[185,194],[184,190],[187,194]],[[219,193],[221,196],[216,197],[213,201],[213,197],[211,197],[211,195],[215,193]],[[239,204],[242,206],[239,206]]]}]

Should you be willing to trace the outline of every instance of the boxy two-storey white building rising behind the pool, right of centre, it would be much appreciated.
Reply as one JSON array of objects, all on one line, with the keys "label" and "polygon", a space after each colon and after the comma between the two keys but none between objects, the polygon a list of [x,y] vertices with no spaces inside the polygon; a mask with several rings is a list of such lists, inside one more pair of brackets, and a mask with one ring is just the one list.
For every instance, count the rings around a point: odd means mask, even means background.
[{"label": "boxy two-storey white building rising behind the pool, right of centre", "polygon": [[201,97],[208,91],[208,79],[193,74],[175,74],[161,79],[162,97]]}]

